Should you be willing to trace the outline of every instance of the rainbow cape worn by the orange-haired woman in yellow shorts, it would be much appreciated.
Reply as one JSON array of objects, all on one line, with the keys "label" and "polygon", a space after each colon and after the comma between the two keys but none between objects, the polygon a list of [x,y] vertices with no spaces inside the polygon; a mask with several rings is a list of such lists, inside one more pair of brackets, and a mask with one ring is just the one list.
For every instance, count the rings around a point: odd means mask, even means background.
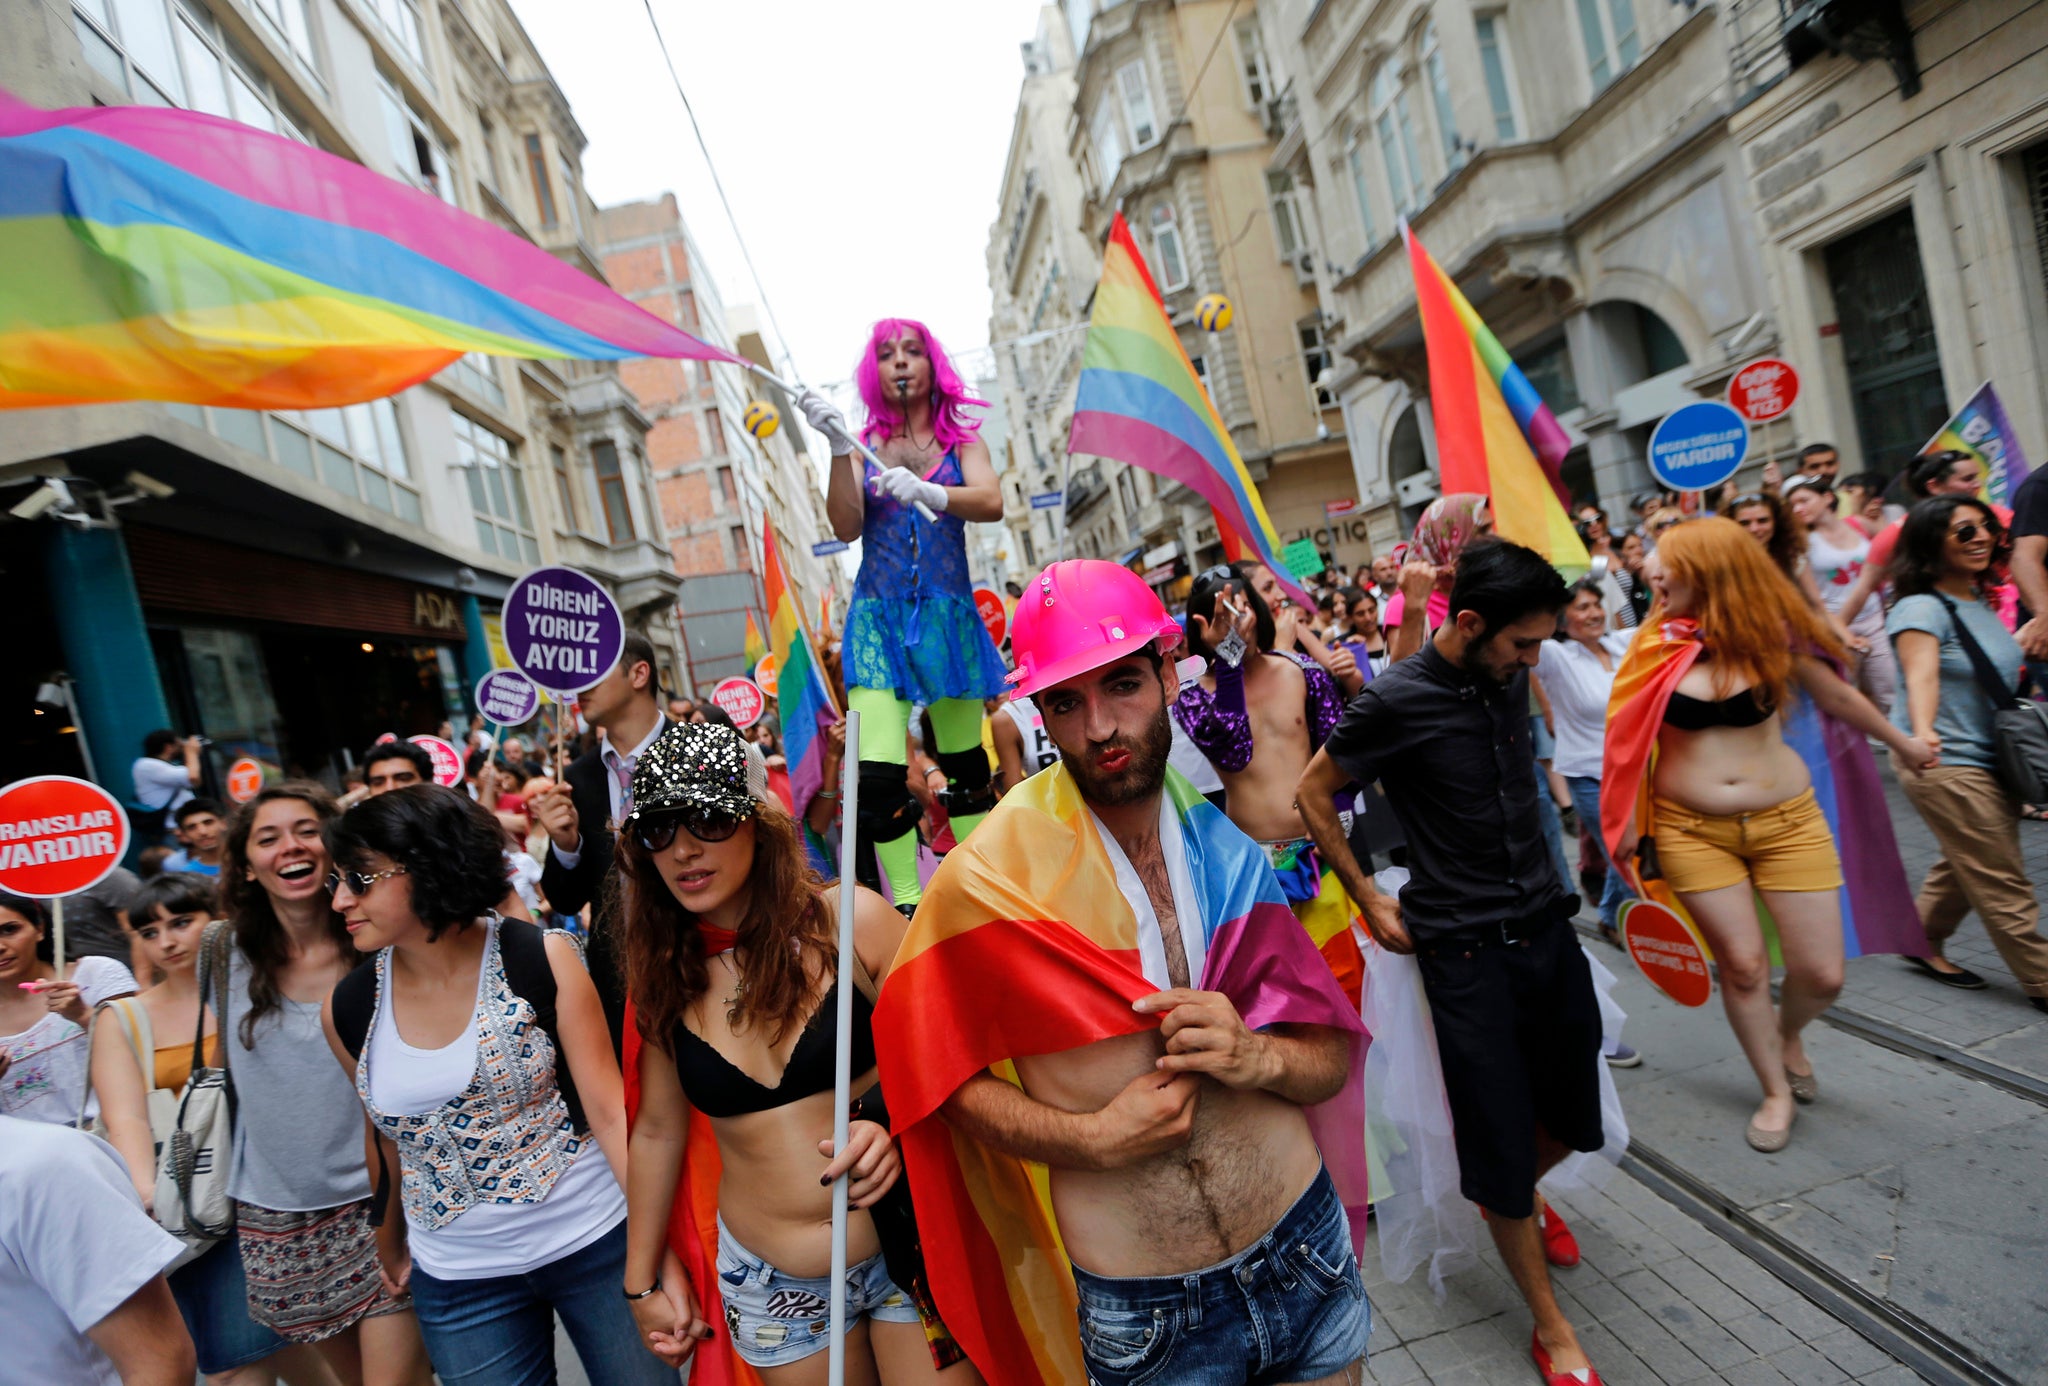
[{"label": "rainbow cape worn by the orange-haired woman in yellow shorts", "polygon": [[[1671,692],[1700,657],[1700,626],[1686,616],[1645,624],[1636,633],[1628,653],[1622,655],[1622,667],[1614,672],[1614,692],[1608,696],[1608,747],[1599,768],[1599,835],[1608,843],[1608,854],[1628,872],[1636,895],[1688,919],[1671,884],[1642,880],[1636,862],[1622,860],[1616,848],[1630,823],[1638,831],[1649,831],[1657,733],[1663,729]],[[1913,909],[1913,886],[1907,884],[1907,868],[1898,860],[1898,839],[1884,809],[1884,782],[1878,778],[1870,743],[1860,731],[1827,717],[1812,698],[1798,692],[1784,719],[1784,737],[1786,745],[1806,762],[1812,794],[1841,854],[1845,954],[1860,958],[1866,952],[1896,952],[1925,958],[1933,950],[1927,946],[1919,911]],[[1772,942],[1776,950],[1776,940]]]}]

